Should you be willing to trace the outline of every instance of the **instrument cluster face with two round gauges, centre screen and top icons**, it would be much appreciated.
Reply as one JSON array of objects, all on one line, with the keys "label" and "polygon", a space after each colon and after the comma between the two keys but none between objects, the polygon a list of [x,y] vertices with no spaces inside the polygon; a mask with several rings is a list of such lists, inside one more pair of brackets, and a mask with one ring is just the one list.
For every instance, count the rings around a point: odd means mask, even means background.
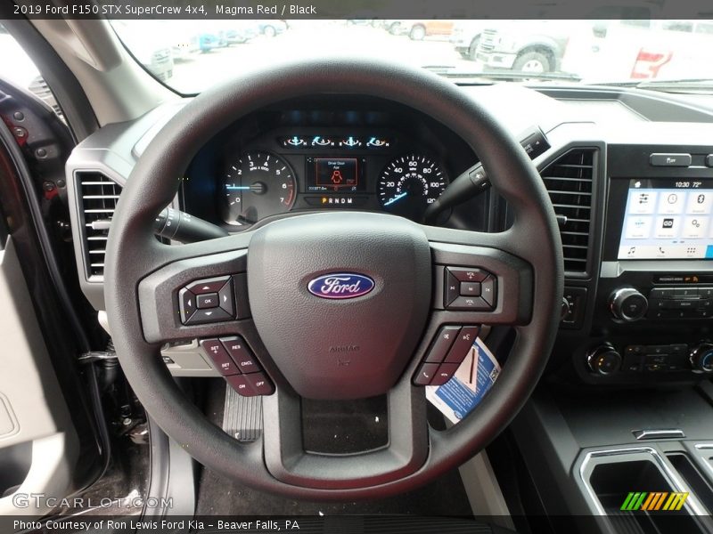
[{"label": "instrument cluster face with two round gauges, centre screen and top icons", "polygon": [[234,226],[306,209],[382,210],[421,221],[449,178],[438,155],[393,132],[275,131],[226,154],[220,211]]}]

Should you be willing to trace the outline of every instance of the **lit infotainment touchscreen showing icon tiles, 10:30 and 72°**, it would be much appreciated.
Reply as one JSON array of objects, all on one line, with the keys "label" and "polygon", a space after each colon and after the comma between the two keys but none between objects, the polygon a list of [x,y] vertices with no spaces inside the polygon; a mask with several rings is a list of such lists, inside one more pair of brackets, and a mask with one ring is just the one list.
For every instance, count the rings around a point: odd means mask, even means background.
[{"label": "lit infotainment touchscreen showing icon tiles, 10:30 and 72\u00b0", "polygon": [[713,260],[713,180],[629,182],[620,260]]}]

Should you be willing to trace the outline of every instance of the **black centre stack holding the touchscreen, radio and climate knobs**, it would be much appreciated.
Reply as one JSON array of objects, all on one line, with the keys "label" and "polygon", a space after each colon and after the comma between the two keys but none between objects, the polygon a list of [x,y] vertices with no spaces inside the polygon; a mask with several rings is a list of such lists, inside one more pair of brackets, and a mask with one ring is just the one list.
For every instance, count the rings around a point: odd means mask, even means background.
[{"label": "black centre stack holding the touchscreen, radio and climate knobs", "polygon": [[578,376],[695,382],[713,372],[713,147],[608,146],[602,262]]}]

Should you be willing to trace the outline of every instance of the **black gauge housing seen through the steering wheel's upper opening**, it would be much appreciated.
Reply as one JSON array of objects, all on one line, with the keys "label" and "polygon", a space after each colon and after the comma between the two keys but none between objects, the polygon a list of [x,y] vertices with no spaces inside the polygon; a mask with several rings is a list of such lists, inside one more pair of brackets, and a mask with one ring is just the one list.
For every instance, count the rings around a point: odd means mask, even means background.
[{"label": "black gauge housing seen through the steering wheel's upper opening", "polygon": [[[392,102],[290,102],[243,117],[211,140],[186,172],[183,205],[230,231],[310,210],[381,211],[422,222],[448,183],[477,162],[443,125]],[[477,214],[486,206],[471,208],[475,214],[461,209],[453,224],[480,227]]]}]

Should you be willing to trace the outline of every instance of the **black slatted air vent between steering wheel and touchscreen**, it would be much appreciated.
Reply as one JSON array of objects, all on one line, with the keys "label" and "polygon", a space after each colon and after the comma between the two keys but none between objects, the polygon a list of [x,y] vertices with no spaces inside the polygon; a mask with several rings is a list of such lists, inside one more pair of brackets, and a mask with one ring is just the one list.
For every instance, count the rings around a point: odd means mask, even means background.
[{"label": "black slatted air vent between steering wheel and touchscreen", "polygon": [[594,149],[570,150],[541,173],[560,223],[567,272],[586,272],[595,154]]}]

